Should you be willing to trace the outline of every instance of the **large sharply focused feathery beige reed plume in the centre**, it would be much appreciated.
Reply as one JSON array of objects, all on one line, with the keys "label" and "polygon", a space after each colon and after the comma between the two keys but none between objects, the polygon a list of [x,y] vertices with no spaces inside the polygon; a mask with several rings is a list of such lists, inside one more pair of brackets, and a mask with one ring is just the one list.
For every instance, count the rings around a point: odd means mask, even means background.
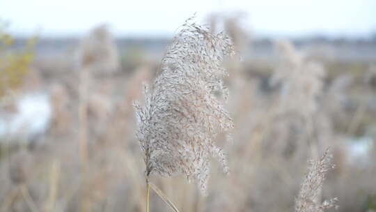
[{"label": "large sharply focused feathery beige reed plume in the centre", "polygon": [[[146,176],[184,174],[205,194],[210,157],[219,158],[228,172],[226,156],[214,143],[233,121],[221,100],[227,99],[221,61],[234,48],[224,33],[213,34],[189,18],[168,47],[145,104],[134,103]],[[221,96],[222,98],[219,98]]]}]

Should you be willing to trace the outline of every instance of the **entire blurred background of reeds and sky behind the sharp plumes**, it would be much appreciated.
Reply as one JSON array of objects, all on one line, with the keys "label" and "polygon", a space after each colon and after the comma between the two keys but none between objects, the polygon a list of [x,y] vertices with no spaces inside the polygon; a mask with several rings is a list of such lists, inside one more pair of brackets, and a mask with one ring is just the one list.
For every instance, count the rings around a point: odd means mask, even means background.
[{"label": "entire blurred background of reeds and sky behind the sharp plumes", "polygon": [[[376,211],[376,1],[2,1],[0,211],[145,211],[133,100],[180,25],[225,31],[230,175],[207,197],[152,177],[180,211],[294,211],[308,160],[318,201]],[[152,193],[151,211],[169,211]]]}]

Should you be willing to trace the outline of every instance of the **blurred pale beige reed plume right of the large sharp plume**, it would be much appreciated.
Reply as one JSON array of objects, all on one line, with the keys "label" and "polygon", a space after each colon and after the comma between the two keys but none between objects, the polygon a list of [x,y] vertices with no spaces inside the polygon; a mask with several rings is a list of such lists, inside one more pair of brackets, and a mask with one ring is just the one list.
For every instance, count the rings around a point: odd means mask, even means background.
[{"label": "blurred pale beige reed plume right of the large sharp plume", "polygon": [[281,111],[310,117],[318,110],[325,70],[320,63],[309,61],[288,41],[278,43],[281,63],[270,83],[281,84]]}]

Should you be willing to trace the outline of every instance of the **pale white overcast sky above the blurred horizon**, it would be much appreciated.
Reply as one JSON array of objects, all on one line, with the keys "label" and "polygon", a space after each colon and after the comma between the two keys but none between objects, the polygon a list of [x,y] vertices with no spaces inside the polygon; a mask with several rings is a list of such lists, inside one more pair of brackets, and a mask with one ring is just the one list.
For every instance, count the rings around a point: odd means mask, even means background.
[{"label": "pale white overcast sky above the blurred horizon", "polygon": [[242,10],[246,28],[261,35],[370,36],[376,0],[2,0],[0,18],[18,36],[81,36],[107,23],[116,36],[164,36],[195,12]]}]

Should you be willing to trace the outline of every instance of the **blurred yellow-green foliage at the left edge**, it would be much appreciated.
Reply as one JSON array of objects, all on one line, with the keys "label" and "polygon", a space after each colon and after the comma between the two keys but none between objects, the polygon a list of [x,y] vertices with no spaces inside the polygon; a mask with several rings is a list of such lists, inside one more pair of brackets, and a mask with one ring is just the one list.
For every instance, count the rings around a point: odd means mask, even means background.
[{"label": "blurred yellow-green foliage at the left edge", "polygon": [[33,61],[36,38],[27,40],[21,50],[12,50],[15,40],[7,32],[8,24],[0,20],[0,97],[22,84],[23,76]]}]

